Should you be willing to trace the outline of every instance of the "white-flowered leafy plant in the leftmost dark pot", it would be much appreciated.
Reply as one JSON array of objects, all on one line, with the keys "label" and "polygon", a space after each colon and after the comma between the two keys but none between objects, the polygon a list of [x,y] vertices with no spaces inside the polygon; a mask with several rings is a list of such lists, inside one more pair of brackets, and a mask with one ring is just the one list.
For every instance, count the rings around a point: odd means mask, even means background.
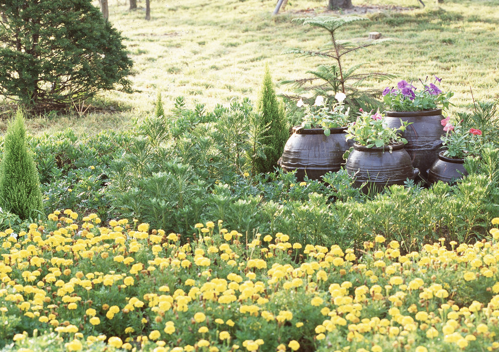
[{"label": "white-flowered leafy plant in the leftmost dark pot", "polygon": [[303,122],[301,126],[303,128],[322,128],[324,130],[324,135],[329,136],[331,134],[331,128],[344,127],[350,122],[348,114],[350,113],[350,108],[345,110],[343,105],[343,100],[346,96],[343,93],[336,93],[335,99],[338,101],[336,104],[329,107],[327,102],[324,101],[324,97],[318,95],[315,98],[315,103],[313,106],[308,106],[303,103],[300,99],[296,104],[298,107],[306,106],[305,116],[303,116]]}]

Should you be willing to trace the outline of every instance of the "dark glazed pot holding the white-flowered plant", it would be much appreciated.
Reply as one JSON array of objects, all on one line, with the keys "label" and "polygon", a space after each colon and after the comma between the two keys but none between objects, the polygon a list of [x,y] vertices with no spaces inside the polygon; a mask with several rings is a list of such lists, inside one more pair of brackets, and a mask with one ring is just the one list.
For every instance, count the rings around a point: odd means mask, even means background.
[{"label": "dark glazed pot holding the white-flowered plant", "polygon": [[302,181],[320,179],[329,171],[340,170],[345,162],[343,154],[350,148],[345,141],[346,127],[331,128],[329,136],[321,128],[293,127],[293,134],[286,142],[282,157],[277,164],[284,172],[296,170],[296,178]]}]

